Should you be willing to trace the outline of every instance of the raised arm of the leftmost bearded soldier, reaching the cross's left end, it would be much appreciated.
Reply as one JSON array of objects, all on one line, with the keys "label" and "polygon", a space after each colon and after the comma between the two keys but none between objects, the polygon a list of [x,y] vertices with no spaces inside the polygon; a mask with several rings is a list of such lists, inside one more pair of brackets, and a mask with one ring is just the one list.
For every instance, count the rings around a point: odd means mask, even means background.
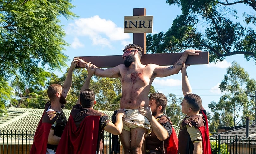
[{"label": "raised arm of the leftmost bearded soldier, reaching the cross's left end", "polygon": [[67,94],[68,94],[68,92],[70,91],[70,88],[71,88],[72,74],[73,74],[73,70],[76,67],[77,63],[78,62],[74,61],[74,60],[71,62],[70,68],[68,69],[68,72],[67,72],[67,77],[66,77],[66,79],[63,83],[63,91],[66,94],[66,97],[67,97]]}]

